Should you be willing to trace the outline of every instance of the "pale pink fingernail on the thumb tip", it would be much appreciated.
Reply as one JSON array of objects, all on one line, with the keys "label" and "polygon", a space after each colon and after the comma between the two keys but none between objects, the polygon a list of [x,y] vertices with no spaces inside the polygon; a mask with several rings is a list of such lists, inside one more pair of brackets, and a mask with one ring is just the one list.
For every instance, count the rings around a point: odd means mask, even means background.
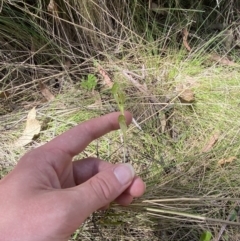
[{"label": "pale pink fingernail on the thumb tip", "polygon": [[114,169],[114,175],[122,185],[125,185],[133,180],[135,171],[132,165],[126,163],[117,166]]}]

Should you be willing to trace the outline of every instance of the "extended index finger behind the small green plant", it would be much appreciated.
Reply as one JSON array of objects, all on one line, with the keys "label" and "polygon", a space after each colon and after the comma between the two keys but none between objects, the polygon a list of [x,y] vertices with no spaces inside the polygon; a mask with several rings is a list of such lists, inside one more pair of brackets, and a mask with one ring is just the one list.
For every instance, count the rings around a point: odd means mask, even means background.
[{"label": "extended index finger behind the small green plant", "polygon": [[[45,149],[60,149],[71,157],[83,151],[93,140],[119,129],[119,112],[113,112],[98,118],[85,121],[69,131],[57,136],[44,145]],[[125,112],[127,124],[131,123],[132,115]]]}]

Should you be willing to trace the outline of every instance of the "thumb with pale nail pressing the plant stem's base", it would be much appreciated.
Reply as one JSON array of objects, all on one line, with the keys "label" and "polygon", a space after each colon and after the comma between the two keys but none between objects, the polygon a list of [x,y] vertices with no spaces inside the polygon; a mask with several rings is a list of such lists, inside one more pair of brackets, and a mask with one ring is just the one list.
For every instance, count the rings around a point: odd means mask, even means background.
[{"label": "thumb with pale nail pressing the plant stem's base", "polygon": [[85,183],[74,187],[72,203],[77,207],[75,215],[83,222],[94,211],[108,205],[132,183],[135,171],[130,164],[119,164],[102,171]]}]

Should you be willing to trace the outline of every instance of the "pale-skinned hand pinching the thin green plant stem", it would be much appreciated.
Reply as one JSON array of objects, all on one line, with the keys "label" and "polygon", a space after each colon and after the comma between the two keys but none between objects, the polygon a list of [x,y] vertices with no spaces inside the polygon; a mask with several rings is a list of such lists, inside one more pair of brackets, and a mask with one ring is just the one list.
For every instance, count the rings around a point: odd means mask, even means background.
[{"label": "pale-skinned hand pinching the thin green plant stem", "polygon": [[[93,140],[119,129],[111,113],[86,121],[25,154],[0,181],[0,239],[67,241],[94,211],[129,205],[145,191],[129,164],[72,161]],[[127,123],[131,114],[125,113]]]}]

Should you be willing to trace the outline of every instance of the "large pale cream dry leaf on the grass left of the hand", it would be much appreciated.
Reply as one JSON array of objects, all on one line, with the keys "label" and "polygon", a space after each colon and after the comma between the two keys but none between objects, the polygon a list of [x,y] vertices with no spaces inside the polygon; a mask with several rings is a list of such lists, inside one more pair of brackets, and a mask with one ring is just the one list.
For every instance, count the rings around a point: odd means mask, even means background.
[{"label": "large pale cream dry leaf on the grass left of the hand", "polygon": [[27,116],[27,123],[22,136],[15,142],[15,146],[22,147],[29,144],[35,135],[38,135],[41,129],[41,125],[36,120],[36,108],[32,108]]}]

